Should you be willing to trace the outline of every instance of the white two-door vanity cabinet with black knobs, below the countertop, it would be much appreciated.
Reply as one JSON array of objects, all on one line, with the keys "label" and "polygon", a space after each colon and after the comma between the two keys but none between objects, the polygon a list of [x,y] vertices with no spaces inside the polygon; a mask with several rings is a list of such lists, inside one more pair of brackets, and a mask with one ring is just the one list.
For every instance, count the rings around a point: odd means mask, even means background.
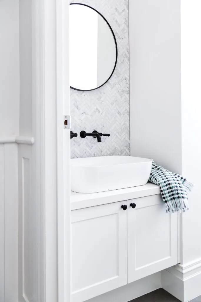
[{"label": "white two-door vanity cabinet with black knobs, below the countertop", "polygon": [[83,198],[85,208],[71,211],[72,302],[177,264],[177,214],[165,212],[161,194],[94,206],[101,200]]}]

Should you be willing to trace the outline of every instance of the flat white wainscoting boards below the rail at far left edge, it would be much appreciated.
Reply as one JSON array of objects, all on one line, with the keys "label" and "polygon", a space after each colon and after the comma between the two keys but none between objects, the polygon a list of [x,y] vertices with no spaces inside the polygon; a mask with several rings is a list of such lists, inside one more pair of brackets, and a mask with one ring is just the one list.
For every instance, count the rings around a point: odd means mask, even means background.
[{"label": "flat white wainscoting boards below the rail at far left edge", "polygon": [[0,144],[0,301],[18,301],[17,144]]}]

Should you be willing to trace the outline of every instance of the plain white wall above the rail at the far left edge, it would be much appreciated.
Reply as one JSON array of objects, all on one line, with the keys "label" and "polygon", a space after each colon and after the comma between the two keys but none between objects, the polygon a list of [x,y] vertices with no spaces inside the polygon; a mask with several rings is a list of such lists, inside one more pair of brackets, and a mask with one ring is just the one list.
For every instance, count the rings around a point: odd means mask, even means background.
[{"label": "plain white wall above the rail at the far left edge", "polygon": [[19,133],[19,1],[0,1],[0,136]]}]

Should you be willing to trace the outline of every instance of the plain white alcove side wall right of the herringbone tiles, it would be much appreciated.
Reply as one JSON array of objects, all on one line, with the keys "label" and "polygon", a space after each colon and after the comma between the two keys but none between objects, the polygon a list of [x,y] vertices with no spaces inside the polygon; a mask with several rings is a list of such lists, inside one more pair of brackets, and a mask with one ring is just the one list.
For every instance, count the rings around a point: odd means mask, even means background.
[{"label": "plain white alcove side wall right of the herringbone tiles", "polygon": [[180,0],[130,0],[131,155],[181,173]]}]

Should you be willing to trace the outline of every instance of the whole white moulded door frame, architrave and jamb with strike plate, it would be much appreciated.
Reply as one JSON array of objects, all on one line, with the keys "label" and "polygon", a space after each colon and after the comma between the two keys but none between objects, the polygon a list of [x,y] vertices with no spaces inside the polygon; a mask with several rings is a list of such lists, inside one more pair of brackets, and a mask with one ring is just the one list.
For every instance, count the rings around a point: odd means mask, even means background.
[{"label": "whole white moulded door frame, architrave and jamb with strike plate", "polygon": [[71,300],[69,0],[35,0],[33,123],[36,139],[40,302]]}]

